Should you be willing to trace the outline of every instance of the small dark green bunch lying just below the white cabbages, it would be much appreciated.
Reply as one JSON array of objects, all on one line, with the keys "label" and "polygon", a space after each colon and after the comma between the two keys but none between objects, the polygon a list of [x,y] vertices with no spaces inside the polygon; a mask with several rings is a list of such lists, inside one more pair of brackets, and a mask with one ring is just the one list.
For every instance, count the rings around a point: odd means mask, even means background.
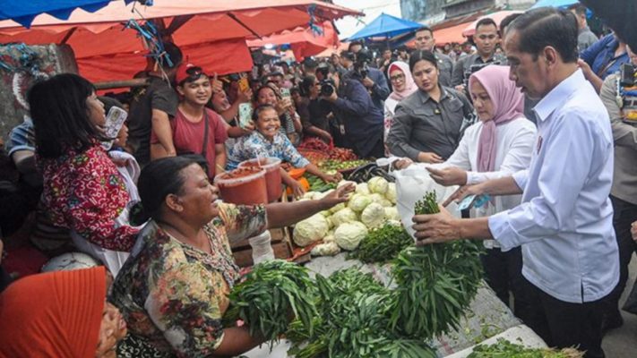
[{"label": "small dark green bunch lying just below the white cabbages", "polygon": [[400,251],[413,245],[414,239],[400,224],[386,223],[370,230],[350,257],[365,263],[392,260]]}]

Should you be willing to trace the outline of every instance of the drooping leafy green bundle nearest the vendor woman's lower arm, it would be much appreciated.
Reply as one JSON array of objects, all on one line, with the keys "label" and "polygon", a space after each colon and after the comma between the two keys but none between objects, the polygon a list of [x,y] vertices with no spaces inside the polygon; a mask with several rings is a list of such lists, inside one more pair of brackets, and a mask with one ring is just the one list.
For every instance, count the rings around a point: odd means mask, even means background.
[{"label": "drooping leafy green bundle nearest the vendor woman's lower arm", "polygon": [[290,315],[307,332],[314,331],[314,296],[314,282],[306,268],[286,260],[264,261],[233,287],[224,321],[232,325],[243,320],[251,336],[261,335],[274,345],[288,330]]}]

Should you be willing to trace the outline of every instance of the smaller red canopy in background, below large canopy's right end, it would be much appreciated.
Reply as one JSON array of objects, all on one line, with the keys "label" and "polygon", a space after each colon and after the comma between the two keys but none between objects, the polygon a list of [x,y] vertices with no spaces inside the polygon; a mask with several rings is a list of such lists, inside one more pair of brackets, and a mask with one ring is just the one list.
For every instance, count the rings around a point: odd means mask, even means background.
[{"label": "smaller red canopy in background, below large canopy's right end", "polygon": [[339,35],[331,21],[324,21],[319,29],[323,32],[317,33],[311,28],[298,27],[267,38],[248,40],[247,45],[248,47],[264,47],[267,44],[277,46],[289,44],[297,61],[302,61],[305,57],[320,54],[327,48],[340,45]]}]

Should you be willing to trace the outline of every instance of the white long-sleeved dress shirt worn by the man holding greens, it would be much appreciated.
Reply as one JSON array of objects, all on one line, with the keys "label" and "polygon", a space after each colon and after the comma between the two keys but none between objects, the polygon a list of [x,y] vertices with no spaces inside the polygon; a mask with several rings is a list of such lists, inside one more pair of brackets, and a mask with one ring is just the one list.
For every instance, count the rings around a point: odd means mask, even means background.
[{"label": "white long-sleeved dress shirt worn by the man holding greens", "polygon": [[593,302],[619,279],[619,255],[608,194],[613,134],[606,108],[581,70],[534,108],[538,140],[515,209],[489,217],[503,250],[522,246],[522,275],[568,303]]}]

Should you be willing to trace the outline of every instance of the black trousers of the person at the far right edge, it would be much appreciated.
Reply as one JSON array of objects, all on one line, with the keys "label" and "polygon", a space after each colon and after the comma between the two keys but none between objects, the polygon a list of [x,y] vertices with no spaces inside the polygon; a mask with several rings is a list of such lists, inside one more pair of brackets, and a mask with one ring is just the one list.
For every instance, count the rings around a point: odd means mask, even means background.
[{"label": "black trousers of the person at the far right edge", "polygon": [[637,205],[628,201],[610,196],[613,202],[613,226],[617,246],[619,247],[619,282],[607,299],[607,314],[610,316],[619,314],[619,299],[624,293],[628,280],[628,264],[631,263],[633,252],[637,252],[637,243],[631,235],[631,224],[637,220]]}]

